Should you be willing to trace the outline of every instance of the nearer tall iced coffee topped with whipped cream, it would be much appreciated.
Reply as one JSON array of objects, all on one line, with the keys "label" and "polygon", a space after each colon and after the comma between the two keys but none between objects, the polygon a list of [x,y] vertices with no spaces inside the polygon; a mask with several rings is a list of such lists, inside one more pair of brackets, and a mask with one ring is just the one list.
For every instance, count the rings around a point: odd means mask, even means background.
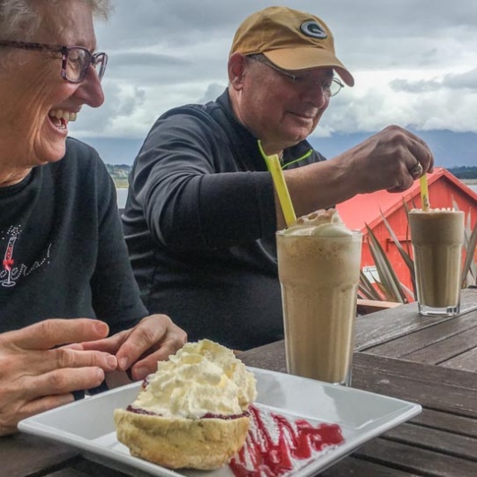
[{"label": "nearer tall iced coffee topped with whipped cream", "polygon": [[277,232],[287,370],[349,384],[361,234],[332,209]]}]

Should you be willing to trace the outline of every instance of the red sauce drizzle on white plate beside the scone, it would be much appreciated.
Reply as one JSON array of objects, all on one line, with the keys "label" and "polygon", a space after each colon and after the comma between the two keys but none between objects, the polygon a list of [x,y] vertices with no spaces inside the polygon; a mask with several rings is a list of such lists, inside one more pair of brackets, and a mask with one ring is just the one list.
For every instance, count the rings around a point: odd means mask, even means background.
[{"label": "red sauce drizzle on white plate beside the scone", "polygon": [[[337,424],[322,423],[313,427],[308,421],[299,419],[291,423],[284,416],[271,412],[270,416],[278,429],[278,440],[273,439],[260,411],[252,405],[249,412],[253,425],[244,447],[229,464],[237,477],[282,475],[293,470],[292,459],[305,460],[312,456],[313,451],[344,442],[342,430]],[[249,465],[252,465],[252,470]]]}]

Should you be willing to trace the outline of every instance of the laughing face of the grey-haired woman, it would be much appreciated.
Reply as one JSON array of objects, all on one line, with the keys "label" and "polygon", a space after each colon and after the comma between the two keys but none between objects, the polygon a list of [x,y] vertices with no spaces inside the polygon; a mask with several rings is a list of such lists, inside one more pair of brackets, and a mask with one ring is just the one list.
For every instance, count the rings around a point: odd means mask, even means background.
[{"label": "laughing face of the grey-haired woman", "polygon": [[[91,7],[69,0],[65,9],[42,3],[43,21],[31,41],[62,46],[96,47]],[[18,40],[22,40],[18,38]],[[65,155],[68,121],[82,105],[99,107],[100,80],[92,66],[80,83],[61,77],[61,54],[15,49],[0,82],[0,165],[25,169]]]}]

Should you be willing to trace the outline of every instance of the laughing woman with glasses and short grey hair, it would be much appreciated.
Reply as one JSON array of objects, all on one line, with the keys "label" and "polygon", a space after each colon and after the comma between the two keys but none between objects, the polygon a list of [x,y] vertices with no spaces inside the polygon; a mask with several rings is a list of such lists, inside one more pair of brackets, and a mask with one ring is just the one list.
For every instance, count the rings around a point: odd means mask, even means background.
[{"label": "laughing woman with glasses and short grey hair", "polygon": [[106,0],[0,0],[0,434],[110,371],[142,379],[186,342],[147,317],[114,185],[66,137],[103,102],[92,18],[107,14]]}]

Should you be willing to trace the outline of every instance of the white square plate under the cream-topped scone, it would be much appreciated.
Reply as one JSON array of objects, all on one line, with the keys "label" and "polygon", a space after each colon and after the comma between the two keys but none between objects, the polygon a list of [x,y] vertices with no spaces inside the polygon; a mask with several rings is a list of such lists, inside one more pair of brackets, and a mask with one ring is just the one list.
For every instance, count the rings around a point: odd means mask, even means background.
[{"label": "white square plate under the cream-topped scone", "polygon": [[[248,368],[256,376],[260,412],[280,413],[290,420],[305,419],[310,424],[335,423],[343,432],[344,443],[329,447],[308,461],[299,461],[290,475],[306,477],[323,472],[371,438],[421,412],[419,404],[376,395],[351,387],[334,386],[312,379]],[[21,421],[23,432],[69,444],[82,449],[93,461],[135,476],[166,475],[229,477],[224,466],[212,472],[173,472],[129,455],[117,442],[113,421],[116,408],[132,403],[140,383],[119,387],[52,411]]]}]

